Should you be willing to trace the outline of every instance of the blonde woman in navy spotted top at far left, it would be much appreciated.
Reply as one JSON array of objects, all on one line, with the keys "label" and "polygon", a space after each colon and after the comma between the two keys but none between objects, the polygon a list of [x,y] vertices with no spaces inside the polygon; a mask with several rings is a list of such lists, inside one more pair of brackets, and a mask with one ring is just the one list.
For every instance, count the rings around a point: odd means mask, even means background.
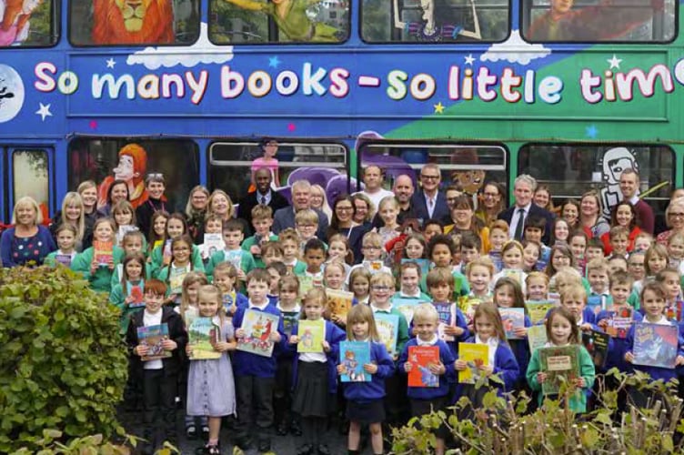
[{"label": "blonde woman in navy spotted top at far left", "polygon": [[43,214],[33,197],[25,196],[16,201],[12,212],[15,226],[0,236],[3,267],[40,266],[43,259],[57,249],[50,231],[40,225],[42,222]]}]

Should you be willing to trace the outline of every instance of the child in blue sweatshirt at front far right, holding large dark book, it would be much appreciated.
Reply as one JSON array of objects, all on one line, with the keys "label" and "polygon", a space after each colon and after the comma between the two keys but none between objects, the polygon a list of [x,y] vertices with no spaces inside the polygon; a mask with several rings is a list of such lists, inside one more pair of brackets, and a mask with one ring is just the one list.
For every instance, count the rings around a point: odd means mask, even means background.
[{"label": "child in blue sweatshirt at front far right, holding large dark book", "polygon": [[[657,281],[649,281],[641,289],[641,308],[643,308],[646,313],[644,316],[644,323],[658,324],[663,326],[676,326],[677,322],[668,320],[663,314],[665,309],[665,301],[667,298],[667,291],[663,288],[662,284]],[[627,343],[629,350],[625,353],[625,360],[629,363],[634,361],[634,353],[632,349],[634,348],[634,333],[636,331],[636,324],[632,325],[629,329],[627,335]],[[678,344],[677,344],[677,359],[675,360],[675,366],[679,367],[684,365],[684,351],[682,351],[682,344],[684,344],[684,339],[679,336],[678,329]],[[661,348],[662,351],[664,348]],[[653,380],[662,379],[663,382],[669,382],[677,377],[676,369],[667,369],[662,367],[651,367],[648,365],[634,365],[633,369],[643,371],[648,373],[650,378]],[[649,399],[653,395],[653,391],[644,391],[639,389],[629,389],[629,399],[638,408],[645,408]]]}]

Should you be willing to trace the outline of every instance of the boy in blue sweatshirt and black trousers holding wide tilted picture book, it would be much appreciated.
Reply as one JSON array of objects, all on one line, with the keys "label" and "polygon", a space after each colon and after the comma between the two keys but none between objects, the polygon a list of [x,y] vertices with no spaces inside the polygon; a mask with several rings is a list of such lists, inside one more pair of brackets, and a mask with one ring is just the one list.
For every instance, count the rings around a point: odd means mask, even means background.
[{"label": "boy in blue sweatshirt and black trousers holding wide tilted picture book", "polygon": [[270,334],[271,341],[276,343],[276,349],[271,357],[243,350],[236,350],[233,356],[237,408],[240,410],[237,415],[236,445],[242,450],[246,450],[251,445],[250,430],[255,430],[255,433],[259,435],[259,451],[268,451],[271,445],[269,429],[274,420],[273,389],[276,382],[276,355],[279,351],[279,344],[285,339],[285,332],[280,311],[268,303],[269,283],[270,275],[263,268],[256,268],[249,272],[246,277],[249,303],[245,307],[237,307],[233,317],[237,339],[246,337],[245,330],[241,328],[247,309],[263,311],[279,318],[277,330]]}]

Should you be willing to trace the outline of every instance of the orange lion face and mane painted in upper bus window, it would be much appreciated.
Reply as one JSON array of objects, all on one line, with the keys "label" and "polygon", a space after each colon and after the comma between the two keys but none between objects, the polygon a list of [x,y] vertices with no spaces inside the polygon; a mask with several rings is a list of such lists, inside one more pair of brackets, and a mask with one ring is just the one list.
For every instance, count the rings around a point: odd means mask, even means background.
[{"label": "orange lion face and mane painted in upper bus window", "polygon": [[94,44],[173,42],[174,12],[171,0],[94,0]]}]

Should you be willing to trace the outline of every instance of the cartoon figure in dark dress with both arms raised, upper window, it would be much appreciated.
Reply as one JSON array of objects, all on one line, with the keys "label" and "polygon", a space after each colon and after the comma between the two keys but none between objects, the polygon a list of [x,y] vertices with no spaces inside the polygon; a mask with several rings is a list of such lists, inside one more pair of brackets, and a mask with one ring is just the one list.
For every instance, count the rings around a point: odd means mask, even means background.
[{"label": "cartoon figure in dark dress with both arms raised, upper window", "polygon": [[399,0],[394,0],[394,26],[405,30],[408,35],[414,36],[417,41],[423,42],[453,41],[458,35],[482,39],[482,35],[479,32],[478,10],[475,8],[475,0],[469,1],[475,27],[473,31],[465,30],[461,25],[437,25],[435,21],[435,0],[420,0],[420,8],[423,10],[423,22],[403,22],[400,17]]}]

